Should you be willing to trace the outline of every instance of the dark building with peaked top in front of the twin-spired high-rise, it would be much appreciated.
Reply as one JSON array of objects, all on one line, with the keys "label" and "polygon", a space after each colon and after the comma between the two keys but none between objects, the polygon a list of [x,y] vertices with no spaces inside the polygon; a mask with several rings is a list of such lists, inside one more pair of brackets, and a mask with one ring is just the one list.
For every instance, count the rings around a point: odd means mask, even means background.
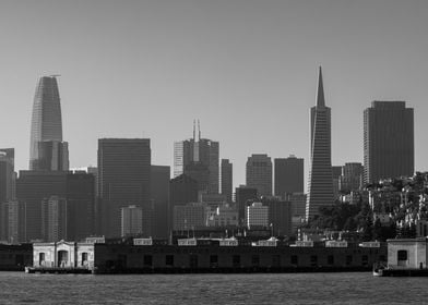
[{"label": "dark building with peaked top in front of the twin-spired high-rise", "polygon": [[168,228],[173,228],[174,207],[198,202],[198,182],[187,174],[169,181]]}]

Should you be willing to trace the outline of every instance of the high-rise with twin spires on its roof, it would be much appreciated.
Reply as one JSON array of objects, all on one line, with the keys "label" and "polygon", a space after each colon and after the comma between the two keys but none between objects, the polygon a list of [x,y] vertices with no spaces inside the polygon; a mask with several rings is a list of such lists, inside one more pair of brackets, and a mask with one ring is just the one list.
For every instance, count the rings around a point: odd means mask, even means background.
[{"label": "high-rise with twin spires on its roof", "polygon": [[[199,126],[199,122],[198,122]],[[218,142],[198,136],[193,122],[193,138],[174,144],[174,176],[182,173],[198,181],[200,192],[218,194]]]}]

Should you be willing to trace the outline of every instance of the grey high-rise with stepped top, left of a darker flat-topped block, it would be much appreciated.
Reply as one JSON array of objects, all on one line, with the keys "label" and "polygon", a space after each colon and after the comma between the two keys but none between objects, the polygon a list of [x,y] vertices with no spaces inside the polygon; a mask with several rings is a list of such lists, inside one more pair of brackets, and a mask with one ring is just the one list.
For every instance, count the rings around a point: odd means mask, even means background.
[{"label": "grey high-rise with stepped top, left of a darker flat-topped block", "polygon": [[247,186],[259,196],[272,196],[272,161],[265,154],[251,155],[247,160]]}]

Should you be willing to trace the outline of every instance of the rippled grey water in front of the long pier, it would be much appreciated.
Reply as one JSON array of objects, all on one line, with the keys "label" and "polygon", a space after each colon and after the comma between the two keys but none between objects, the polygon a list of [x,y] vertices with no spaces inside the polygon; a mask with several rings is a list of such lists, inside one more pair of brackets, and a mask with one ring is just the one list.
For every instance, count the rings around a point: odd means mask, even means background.
[{"label": "rippled grey water in front of the long pier", "polygon": [[0,304],[428,304],[428,278],[0,272]]}]

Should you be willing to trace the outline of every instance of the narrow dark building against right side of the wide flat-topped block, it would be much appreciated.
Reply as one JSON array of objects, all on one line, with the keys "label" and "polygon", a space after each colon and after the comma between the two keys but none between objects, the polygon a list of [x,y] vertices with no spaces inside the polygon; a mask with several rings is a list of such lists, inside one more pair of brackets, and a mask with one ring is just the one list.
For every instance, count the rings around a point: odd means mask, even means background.
[{"label": "narrow dark building against right side of the wide flat-topped block", "polygon": [[168,206],[169,206],[169,179],[170,167],[151,167],[151,197],[153,203],[153,229],[155,239],[168,237]]}]

